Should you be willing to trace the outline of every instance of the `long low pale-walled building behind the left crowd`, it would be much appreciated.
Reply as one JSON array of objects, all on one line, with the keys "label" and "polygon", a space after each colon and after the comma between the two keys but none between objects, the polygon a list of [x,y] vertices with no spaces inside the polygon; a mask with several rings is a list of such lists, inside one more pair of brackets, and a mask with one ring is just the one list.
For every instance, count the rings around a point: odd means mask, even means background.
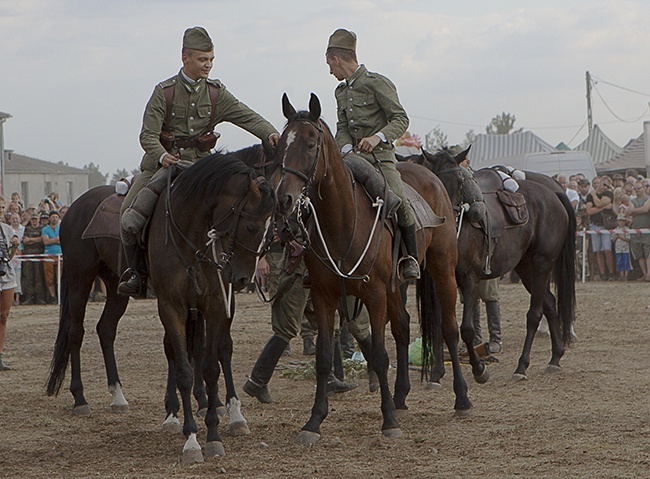
[{"label": "long low pale-walled building behind the left crowd", "polygon": [[38,204],[54,192],[64,205],[70,205],[88,190],[89,173],[62,163],[39,160],[13,151],[5,151],[3,196],[20,193],[28,204]]}]

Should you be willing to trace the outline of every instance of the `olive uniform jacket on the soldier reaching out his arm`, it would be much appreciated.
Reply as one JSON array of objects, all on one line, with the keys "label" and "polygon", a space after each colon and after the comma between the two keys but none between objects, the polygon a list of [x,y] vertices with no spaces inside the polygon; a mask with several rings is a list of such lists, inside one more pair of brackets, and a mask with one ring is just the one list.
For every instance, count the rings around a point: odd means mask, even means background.
[{"label": "olive uniform jacket on the soldier reaching out his arm", "polygon": [[[212,105],[206,82],[219,88],[217,112],[212,122],[210,121]],[[165,149],[160,144],[160,132],[167,111],[163,89],[172,85],[175,85],[175,90],[168,129],[176,138],[196,138],[212,131],[218,123],[224,121],[243,128],[262,141],[266,141],[271,133],[276,132],[273,125],[235,98],[219,80],[199,80],[194,85],[190,85],[179,72],[156,85],[145,108],[140,132],[140,145],[145,151],[140,163],[140,169],[143,171],[155,171],[160,168],[159,160],[165,153]],[[196,148],[184,148],[173,153],[179,153],[181,160],[191,162],[210,154],[210,152],[200,152]]]}]

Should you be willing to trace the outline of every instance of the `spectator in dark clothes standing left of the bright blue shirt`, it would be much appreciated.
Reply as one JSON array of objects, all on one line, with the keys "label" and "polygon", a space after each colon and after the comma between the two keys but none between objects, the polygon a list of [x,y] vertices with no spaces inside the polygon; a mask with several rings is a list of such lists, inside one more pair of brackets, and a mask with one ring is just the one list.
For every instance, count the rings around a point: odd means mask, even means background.
[{"label": "spectator in dark clothes standing left of the bright blue shirt", "polygon": [[[25,227],[23,235],[23,254],[43,254],[43,227],[39,224],[38,213],[34,212]],[[45,282],[43,278],[43,263],[41,261],[25,261],[22,274],[22,304],[45,304]]]}]

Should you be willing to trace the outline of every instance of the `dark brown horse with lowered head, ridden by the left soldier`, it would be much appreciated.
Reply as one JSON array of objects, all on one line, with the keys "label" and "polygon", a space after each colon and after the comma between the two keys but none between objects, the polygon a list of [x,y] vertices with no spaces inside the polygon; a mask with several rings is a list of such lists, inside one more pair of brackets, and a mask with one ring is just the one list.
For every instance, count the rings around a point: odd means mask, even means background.
[{"label": "dark brown horse with lowered head, ridden by the left soldier", "polygon": [[[232,286],[238,290],[248,284],[275,204],[273,188],[247,166],[256,163],[263,166],[267,164],[266,153],[259,145],[229,154],[215,153],[200,160],[176,178],[171,195],[167,196],[166,192],[162,195],[161,198],[164,199],[158,202],[149,227],[150,281],[159,295],[159,309],[165,310],[161,313],[161,319],[164,316],[163,325],[167,326],[164,345],[169,370],[165,425],[170,430],[176,429],[174,423],[178,420],[174,419],[179,407],[176,387],[184,395],[185,387],[187,384],[191,387],[194,379],[194,395],[199,403],[199,411],[207,409],[206,421],[210,416],[209,436],[213,443],[216,442],[213,439],[218,437],[218,433],[214,432],[216,421],[212,417],[213,412],[223,406],[216,395],[216,377],[219,373],[217,359],[226,379],[226,403],[233,406],[230,407],[231,421],[233,415],[237,416],[235,419],[243,419],[236,404],[230,364],[230,324],[234,302],[230,291],[226,292],[226,289],[230,290]],[[111,407],[118,411],[128,408],[113,349],[117,324],[128,304],[128,297],[117,294],[121,273],[118,264],[120,241],[117,235],[83,237],[99,205],[113,193],[114,188],[111,186],[89,190],[70,206],[61,226],[61,247],[65,257],[61,277],[61,309],[47,392],[48,395],[58,394],[70,361],[70,391],[74,397],[75,414],[90,413],[83,395],[80,350],[84,335],[85,307],[97,276],[104,281],[107,289],[107,300],[97,324],[97,333],[104,354],[108,388],[113,395]],[[119,204],[114,209],[119,211]],[[118,223],[118,215],[114,218],[115,223]],[[167,221],[171,225],[165,230]],[[119,231],[117,226],[112,225],[114,231]],[[206,236],[208,232],[210,238]],[[208,239],[212,254],[194,246],[205,244]],[[196,249],[189,252],[192,247]],[[195,273],[189,279],[185,277],[187,270]],[[172,301],[170,297],[173,298]],[[196,305],[191,307],[194,303]],[[172,307],[177,312],[186,308],[182,319],[175,316],[174,324],[167,311]],[[188,313],[190,310],[196,310],[198,314]],[[201,334],[204,332],[204,322],[207,325],[208,342],[205,361],[202,361],[204,340]],[[194,353],[194,378],[192,371],[187,370],[187,348],[180,345],[183,341],[190,343],[190,349]],[[204,373],[209,376],[206,381],[207,395],[203,385]],[[196,432],[196,424],[192,426],[193,419],[187,420],[188,412],[191,415],[191,407],[185,397],[183,404],[186,425],[190,431],[188,434],[191,434],[192,429]],[[233,424],[237,422],[235,420]],[[245,433],[247,428],[235,426],[235,429],[235,433]],[[220,448],[217,449],[220,452]],[[196,454],[194,457],[196,459]]]}]

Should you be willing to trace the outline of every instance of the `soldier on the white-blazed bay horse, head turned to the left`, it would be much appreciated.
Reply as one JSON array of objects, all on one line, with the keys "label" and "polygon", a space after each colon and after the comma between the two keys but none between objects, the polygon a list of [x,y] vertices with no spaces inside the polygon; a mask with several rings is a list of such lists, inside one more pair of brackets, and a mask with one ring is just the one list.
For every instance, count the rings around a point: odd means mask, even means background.
[{"label": "soldier on the white-blazed bay horse, head turned to the left", "polygon": [[329,38],[325,59],[330,73],[342,81],[336,88],[336,142],[341,152],[357,154],[377,164],[390,188],[402,199],[397,220],[408,255],[400,259],[401,276],[420,277],[417,262],[415,218],[397,171],[393,142],[408,128],[409,119],[399,102],[393,82],[360,65],[356,55],[357,36],[339,28]]}]

